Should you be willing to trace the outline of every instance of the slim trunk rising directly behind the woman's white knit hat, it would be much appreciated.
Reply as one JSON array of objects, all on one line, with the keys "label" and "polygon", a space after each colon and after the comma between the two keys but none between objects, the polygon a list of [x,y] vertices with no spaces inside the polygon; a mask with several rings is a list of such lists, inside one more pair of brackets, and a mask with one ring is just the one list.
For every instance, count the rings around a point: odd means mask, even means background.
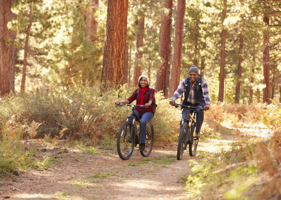
[{"label": "slim trunk rising directly behind the woman's white knit hat", "polygon": [[139,47],[143,46],[143,32],[145,28],[145,16],[142,15],[140,21],[138,21],[138,35],[136,38],[136,62],[134,66],[134,85],[138,85],[138,78],[141,76],[141,58],[143,57],[143,52],[139,51]]}]

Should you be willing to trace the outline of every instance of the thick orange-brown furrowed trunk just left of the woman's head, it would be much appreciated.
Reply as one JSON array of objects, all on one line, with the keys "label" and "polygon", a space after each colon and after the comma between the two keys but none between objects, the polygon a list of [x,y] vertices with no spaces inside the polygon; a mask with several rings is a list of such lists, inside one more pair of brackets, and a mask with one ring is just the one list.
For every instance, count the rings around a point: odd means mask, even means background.
[{"label": "thick orange-brown furrowed trunk just left of the woman's head", "polygon": [[109,84],[123,84],[127,35],[128,0],[108,1],[106,38],[102,63],[104,88]]}]

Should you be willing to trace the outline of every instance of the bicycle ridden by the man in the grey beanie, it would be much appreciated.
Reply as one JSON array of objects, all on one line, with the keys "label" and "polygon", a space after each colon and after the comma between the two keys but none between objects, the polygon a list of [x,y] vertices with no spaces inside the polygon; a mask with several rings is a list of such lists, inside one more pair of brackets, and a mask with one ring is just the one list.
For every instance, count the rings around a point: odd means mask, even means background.
[{"label": "bicycle ridden by the man in the grey beanie", "polygon": [[[193,112],[190,112],[191,111],[190,109],[200,108],[200,110],[204,110],[204,108],[185,106],[182,104],[175,104],[175,105],[171,105],[171,106],[175,106],[176,108],[179,108],[179,107],[188,108],[188,114],[186,115],[187,118],[183,119],[182,128],[179,131],[179,140],[178,140],[178,145],[177,145],[177,159],[178,160],[182,159],[184,150],[186,150],[188,144],[189,144],[189,155],[195,156],[199,138],[194,137],[194,135],[195,135],[194,130],[196,129],[196,122],[195,122],[194,118],[195,118],[196,112],[194,112],[195,110],[192,110]],[[192,114],[193,114],[193,116],[192,116]]]}]

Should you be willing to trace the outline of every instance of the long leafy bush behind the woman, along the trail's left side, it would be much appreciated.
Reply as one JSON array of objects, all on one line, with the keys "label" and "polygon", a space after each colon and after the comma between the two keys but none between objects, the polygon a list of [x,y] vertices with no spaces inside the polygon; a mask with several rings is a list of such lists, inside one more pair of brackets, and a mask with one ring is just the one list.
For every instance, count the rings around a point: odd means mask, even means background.
[{"label": "long leafy bush behind the woman, along the trail's left side", "polygon": [[[0,98],[0,131],[1,126],[2,129],[9,126],[9,132],[13,132],[16,127],[27,127],[34,121],[38,129],[33,138],[46,135],[88,140],[116,136],[131,110],[115,107],[114,102],[127,99],[135,88],[128,89],[123,85],[116,89],[112,86],[102,92],[100,88],[75,85],[68,90],[58,87],[48,93],[41,91]],[[170,108],[162,93],[157,93],[155,98],[158,105],[152,121],[155,139],[177,137],[181,118],[179,110]],[[25,129],[24,137],[29,135]]]}]

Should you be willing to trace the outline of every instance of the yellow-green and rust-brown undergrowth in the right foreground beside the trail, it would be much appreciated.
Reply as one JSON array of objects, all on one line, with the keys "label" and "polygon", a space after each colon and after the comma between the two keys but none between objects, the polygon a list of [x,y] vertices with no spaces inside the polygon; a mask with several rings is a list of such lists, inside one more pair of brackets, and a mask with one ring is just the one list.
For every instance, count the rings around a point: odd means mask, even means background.
[{"label": "yellow-green and rust-brown undergrowth in the right foreground beside the trail", "polygon": [[178,180],[186,181],[189,199],[280,199],[280,108],[267,106],[251,119],[270,129],[268,138],[243,138],[228,151],[198,152],[201,162],[190,160],[190,171]]}]

